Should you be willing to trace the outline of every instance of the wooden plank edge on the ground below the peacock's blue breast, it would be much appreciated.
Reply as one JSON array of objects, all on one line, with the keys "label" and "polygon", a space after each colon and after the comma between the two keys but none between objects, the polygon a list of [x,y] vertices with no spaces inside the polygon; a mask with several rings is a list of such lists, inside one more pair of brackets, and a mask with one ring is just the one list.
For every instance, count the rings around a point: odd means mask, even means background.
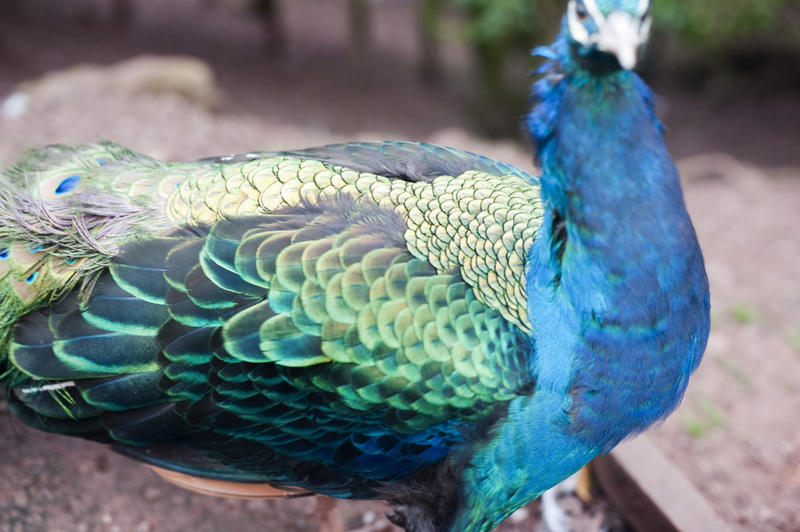
[{"label": "wooden plank edge on the ground below the peacock's blue breast", "polygon": [[611,502],[639,532],[731,532],[646,434],[592,462]]}]

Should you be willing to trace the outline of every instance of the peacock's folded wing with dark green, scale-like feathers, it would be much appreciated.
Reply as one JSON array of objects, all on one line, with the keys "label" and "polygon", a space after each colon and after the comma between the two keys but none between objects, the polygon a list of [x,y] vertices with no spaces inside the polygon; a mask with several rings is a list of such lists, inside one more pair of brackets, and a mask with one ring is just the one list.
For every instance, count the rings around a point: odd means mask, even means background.
[{"label": "peacock's folded wing with dark green, scale-like feathers", "polygon": [[528,336],[405,228],[338,195],[134,241],[88,298],[17,324],[39,380],[12,407],[184,473],[368,495],[531,385]]}]

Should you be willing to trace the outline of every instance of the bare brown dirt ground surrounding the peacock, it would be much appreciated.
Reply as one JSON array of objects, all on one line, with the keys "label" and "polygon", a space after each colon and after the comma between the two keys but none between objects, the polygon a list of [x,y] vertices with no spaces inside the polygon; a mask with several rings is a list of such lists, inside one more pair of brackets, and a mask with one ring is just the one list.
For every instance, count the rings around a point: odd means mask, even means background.
[{"label": "bare brown dirt ground surrounding the peacock", "polygon": [[[190,159],[414,138],[530,167],[526,146],[465,132],[458,88],[419,83],[405,4],[379,3],[375,47],[357,64],[343,48],[337,2],[285,2],[290,39],[279,58],[261,51],[258,24],[189,3],[139,2],[124,27],[102,11],[23,22],[0,15],[0,100],[44,72],[141,53],[194,55],[216,74],[212,81],[192,63],[191,81],[165,88],[174,65],[148,62],[72,69],[29,85],[22,116],[0,113],[0,165],[25,148],[61,141],[113,139],[159,158]],[[465,58],[448,54],[458,80]],[[130,68],[150,69],[151,81],[131,81]],[[686,400],[654,438],[734,530],[800,530],[800,104],[792,95],[757,99],[733,90],[719,99],[665,88],[659,107],[706,256],[713,323]],[[29,430],[3,408],[0,424],[0,529],[320,527],[315,499],[209,499],[102,446]],[[389,530],[380,503],[337,507],[351,529]],[[538,526],[537,508],[503,530]]]}]

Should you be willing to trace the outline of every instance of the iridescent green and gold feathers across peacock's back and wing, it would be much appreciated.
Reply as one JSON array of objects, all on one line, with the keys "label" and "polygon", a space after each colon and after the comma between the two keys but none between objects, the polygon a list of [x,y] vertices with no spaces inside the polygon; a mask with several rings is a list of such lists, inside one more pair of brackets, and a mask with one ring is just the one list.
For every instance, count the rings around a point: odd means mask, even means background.
[{"label": "iridescent green and gold feathers across peacock's back and wing", "polygon": [[[58,284],[37,266],[52,283],[10,320],[9,360],[42,383],[17,388],[25,405],[14,406],[18,414],[46,430],[128,445],[211,431],[271,456],[261,473],[227,474],[329,493],[362,486],[358,475],[392,478],[409,460],[422,467],[440,459],[463,438],[456,426],[491,418],[531,384],[527,336],[508,319],[518,311],[487,304],[493,294],[513,299],[513,289],[479,286],[469,279],[487,263],[458,260],[474,257],[470,239],[495,226],[523,237],[537,227],[534,218],[507,223],[501,207],[515,205],[524,187],[538,192],[524,173],[508,183],[447,177],[435,158],[392,180],[370,173],[382,170],[365,162],[370,150],[360,151],[356,172],[337,166],[335,150],[322,162],[298,153],[163,164],[87,146],[64,149],[63,169],[75,171],[77,160],[83,172],[44,207],[32,207],[41,185],[9,187],[0,199],[16,201],[10,212],[27,222],[15,226],[9,215],[0,236],[44,241],[28,253],[74,269]],[[51,174],[63,172],[53,168],[25,171],[38,176],[33,182],[59,183]],[[494,192],[486,188],[492,180]],[[275,209],[271,194],[283,202]],[[192,197],[201,199],[186,203]],[[497,205],[497,218],[476,222],[470,209],[481,202]],[[58,223],[48,221],[52,213]],[[437,220],[456,225],[432,230]],[[513,246],[495,249],[492,260],[512,256]],[[11,256],[14,265],[27,257],[16,247]],[[521,275],[514,260],[504,283]],[[0,280],[0,289],[12,288]],[[49,383],[67,391],[50,392]],[[70,401],[55,400],[62,395]],[[72,428],[56,419],[58,408],[76,420]],[[339,473],[323,485],[275,465],[286,460]],[[158,463],[216,474],[204,468],[217,465],[201,462]]]}]

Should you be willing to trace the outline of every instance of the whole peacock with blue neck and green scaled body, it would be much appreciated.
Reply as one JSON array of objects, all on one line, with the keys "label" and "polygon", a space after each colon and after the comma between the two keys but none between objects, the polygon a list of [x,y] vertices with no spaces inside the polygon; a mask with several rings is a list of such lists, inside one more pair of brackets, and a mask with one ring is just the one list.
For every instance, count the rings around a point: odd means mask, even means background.
[{"label": "whole peacock with blue neck and green scaled body", "polygon": [[9,408],[193,489],[493,529],[668,415],[705,349],[649,29],[648,0],[569,0],[534,52],[540,176],[399,141],[30,152],[0,185]]}]

